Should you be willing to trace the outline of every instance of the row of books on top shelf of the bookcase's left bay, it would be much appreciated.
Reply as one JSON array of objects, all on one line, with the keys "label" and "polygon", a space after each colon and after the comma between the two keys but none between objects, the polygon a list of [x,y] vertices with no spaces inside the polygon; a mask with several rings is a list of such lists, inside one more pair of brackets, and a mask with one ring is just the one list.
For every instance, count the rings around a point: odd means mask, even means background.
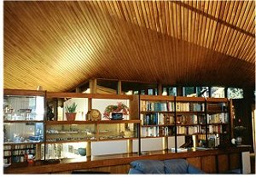
[{"label": "row of books on top shelf of the bookcase's left bay", "polygon": [[141,111],[175,111],[173,101],[154,102],[141,100]]}]

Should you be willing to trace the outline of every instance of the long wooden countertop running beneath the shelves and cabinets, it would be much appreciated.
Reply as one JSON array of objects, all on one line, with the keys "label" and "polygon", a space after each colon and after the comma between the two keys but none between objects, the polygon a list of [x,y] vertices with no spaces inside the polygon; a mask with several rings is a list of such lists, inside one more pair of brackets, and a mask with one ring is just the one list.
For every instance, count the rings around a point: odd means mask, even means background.
[{"label": "long wooden countertop running beneath the shelves and cabinets", "polygon": [[58,173],[61,171],[72,171],[86,168],[108,167],[113,165],[129,164],[134,160],[139,159],[173,159],[173,158],[188,158],[201,156],[214,156],[219,154],[238,153],[241,151],[250,151],[251,146],[234,146],[223,149],[207,149],[195,150],[191,149],[187,152],[172,152],[172,151],[150,151],[143,155],[137,153],[125,153],[109,156],[97,157],[80,157],[76,159],[63,159],[60,163],[46,163],[37,161],[33,164],[22,163],[20,165],[11,165],[4,168],[3,174],[49,174]]}]

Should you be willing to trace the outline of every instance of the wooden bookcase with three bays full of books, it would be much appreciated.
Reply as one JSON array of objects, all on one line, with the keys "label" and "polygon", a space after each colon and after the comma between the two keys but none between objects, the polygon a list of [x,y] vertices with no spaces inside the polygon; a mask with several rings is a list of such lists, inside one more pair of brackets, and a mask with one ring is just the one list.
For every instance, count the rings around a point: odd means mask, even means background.
[{"label": "wooden bookcase with three bays full of books", "polygon": [[159,150],[212,147],[212,139],[218,146],[223,134],[230,138],[229,103],[228,99],[141,95],[141,138],[161,144]]}]

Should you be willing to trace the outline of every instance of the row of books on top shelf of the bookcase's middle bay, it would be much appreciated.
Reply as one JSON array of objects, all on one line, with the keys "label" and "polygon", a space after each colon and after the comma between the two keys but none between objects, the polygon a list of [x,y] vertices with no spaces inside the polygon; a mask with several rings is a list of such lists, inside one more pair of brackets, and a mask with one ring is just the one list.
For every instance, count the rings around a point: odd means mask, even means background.
[{"label": "row of books on top shelf of the bookcase's middle bay", "polygon": [[176,111],[205,111],[204,103],[176,103]]}]

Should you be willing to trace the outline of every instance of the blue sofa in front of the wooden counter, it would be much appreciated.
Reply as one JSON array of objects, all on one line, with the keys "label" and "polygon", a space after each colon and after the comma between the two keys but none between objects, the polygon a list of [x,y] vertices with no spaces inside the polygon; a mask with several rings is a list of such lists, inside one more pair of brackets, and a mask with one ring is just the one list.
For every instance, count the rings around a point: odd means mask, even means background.
[{"label": "blue sofa in front of the wooden counter", "polygon": [[205,174],[185,159],[137,160],[130,164],[128,174]]}]

